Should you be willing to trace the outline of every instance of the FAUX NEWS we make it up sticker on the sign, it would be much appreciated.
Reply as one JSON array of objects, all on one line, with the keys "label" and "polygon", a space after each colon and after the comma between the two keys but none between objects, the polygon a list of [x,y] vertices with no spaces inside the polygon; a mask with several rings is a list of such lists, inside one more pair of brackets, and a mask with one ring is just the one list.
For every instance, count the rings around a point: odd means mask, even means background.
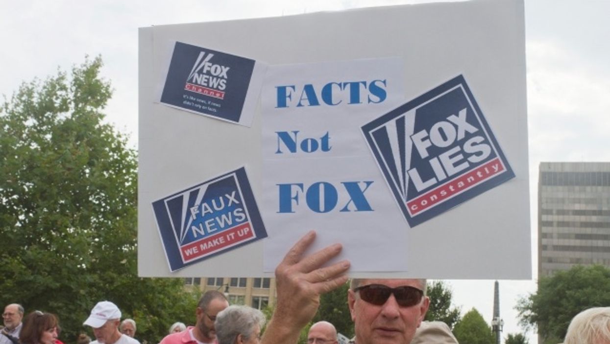
[{"label": "FAUX NEWS we make it up sticker on the sign", "polygon": [[170,270],[267,237],[245,168],[152,202]]}]

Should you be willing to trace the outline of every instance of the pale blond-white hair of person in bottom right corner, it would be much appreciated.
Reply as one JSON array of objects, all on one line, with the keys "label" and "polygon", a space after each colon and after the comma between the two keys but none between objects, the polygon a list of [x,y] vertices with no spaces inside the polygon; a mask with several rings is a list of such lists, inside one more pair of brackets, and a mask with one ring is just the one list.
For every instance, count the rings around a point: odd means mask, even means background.
[{"label": "pale blond-white hair of person in bottom right corner", "polygon": [[564,344],[610,342],[610,307],[583,310],[572,318]]}]

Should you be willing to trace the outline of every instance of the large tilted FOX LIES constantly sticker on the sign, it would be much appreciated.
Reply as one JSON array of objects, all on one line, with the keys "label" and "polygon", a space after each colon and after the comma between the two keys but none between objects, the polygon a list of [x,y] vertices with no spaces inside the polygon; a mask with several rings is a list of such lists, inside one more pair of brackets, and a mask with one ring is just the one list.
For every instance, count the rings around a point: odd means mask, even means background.
[{"label": "large tilted FOX LIES constantly sticker on the sign", "polygon": [[362,132],[411,227],[515,176],[463,76]]}]

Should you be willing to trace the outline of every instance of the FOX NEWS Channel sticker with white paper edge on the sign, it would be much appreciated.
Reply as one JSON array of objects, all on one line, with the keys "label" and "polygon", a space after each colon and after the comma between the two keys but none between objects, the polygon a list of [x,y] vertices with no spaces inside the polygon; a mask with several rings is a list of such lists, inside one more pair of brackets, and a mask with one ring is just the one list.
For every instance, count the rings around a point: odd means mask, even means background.
[{"label": "FOX NEWS Channel sticker with white paper edge on the sign", "polygon": [[266,69],[255,60],[177,41],[161,102],[251,126]]}]

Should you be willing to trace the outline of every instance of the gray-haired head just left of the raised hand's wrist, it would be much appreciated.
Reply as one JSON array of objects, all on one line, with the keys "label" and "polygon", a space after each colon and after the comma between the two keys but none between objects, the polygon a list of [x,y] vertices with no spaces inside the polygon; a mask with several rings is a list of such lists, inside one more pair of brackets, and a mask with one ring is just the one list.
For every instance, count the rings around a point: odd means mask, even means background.
[{"label": "gray-haired head just left of the raised hand's wrist", "polygon": [[229,306],[216,316],[214,328],[218,344],[260,343],[265,315],[248,306]]}]

